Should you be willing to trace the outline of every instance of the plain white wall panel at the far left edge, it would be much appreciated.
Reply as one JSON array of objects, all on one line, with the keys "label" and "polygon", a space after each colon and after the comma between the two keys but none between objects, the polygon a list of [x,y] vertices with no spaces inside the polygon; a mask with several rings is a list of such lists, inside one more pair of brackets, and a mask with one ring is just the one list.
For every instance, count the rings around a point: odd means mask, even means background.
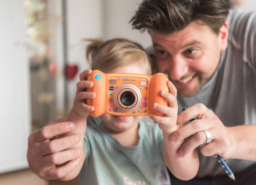
[{"label": "plain white wall panel at the far left edge", "polygon": [[27,166],[30,91],[23,1],[0,6],[0,173]]}]

